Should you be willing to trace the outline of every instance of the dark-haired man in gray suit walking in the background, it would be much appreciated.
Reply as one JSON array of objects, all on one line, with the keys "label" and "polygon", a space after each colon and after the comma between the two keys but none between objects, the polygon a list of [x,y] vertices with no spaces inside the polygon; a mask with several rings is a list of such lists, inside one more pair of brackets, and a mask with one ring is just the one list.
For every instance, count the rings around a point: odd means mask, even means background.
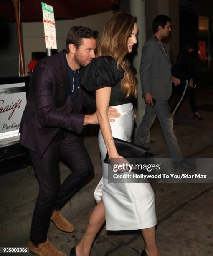
[{"label": "dark-haired man in gray suit walking in the background", "polygon": [[177,86],[180,80],[171,74],[171,62],[161,41],[171,31],[170,22],[168,16],[157,16],[152,23],[153,35],[142,48],[140,79],[147,105],[135,143],[145,143],[157,115],[170,157],[173,161],[179,161],[183,155],[173,130],[168,99],[172,93],[172,82]]}]

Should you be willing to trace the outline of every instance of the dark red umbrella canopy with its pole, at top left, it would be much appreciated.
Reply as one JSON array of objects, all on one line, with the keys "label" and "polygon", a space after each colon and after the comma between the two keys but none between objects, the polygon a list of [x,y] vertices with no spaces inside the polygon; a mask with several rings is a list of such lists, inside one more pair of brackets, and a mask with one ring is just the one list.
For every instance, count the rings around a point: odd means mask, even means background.
[{"label": "dark red umbrella canopy with its pole, at top left", "polygon": [[[13,3],[11,3],[11,1]],[[20,53],[21,75],[25,75],[23,50],[20,34],[18,6],[20,2],[21,22],[42,21],[42,0],[1,0],[0,20],[16,21],[18,32],[18,44]],[[55,20],[74,19],[107,10],[112,10],[119,0],[43,0],[44,3],[53,6]],[[13,10],[15,7],[15,15]]]}]

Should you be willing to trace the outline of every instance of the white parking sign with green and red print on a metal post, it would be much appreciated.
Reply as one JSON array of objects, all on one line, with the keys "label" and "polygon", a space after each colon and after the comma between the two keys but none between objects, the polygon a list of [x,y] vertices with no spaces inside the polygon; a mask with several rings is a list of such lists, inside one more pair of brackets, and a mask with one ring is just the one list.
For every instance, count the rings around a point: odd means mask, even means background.
[{"label": "white parking sign with green and red print on a metal post", "polygon": [[47,56],[51,56],[52,49],[57,49],[54,11],[51,5],[47,5],[43,2],[41,2],[41,7],[43,13],[43,26]]}]

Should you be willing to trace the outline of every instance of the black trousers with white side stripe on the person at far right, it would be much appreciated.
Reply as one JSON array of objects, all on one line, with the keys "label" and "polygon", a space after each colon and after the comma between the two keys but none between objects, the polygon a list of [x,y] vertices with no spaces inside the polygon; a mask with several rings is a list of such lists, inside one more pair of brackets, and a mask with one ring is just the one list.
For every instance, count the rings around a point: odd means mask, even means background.
[{"label": "black trousers with white side stripe on the person at far right", "polygon": [[173,115],[177,115],[177,112],[180,110],[180,107],[184,102],[186,95],[188,95],[189,97],[189,104],[190,104],[192,113],[195,113],[196,111],[198,111],[196,101],[195,101],[195,89],[192,87],[189,87],[188,82],[186,83],[186,80],[185,80],[175,88],[177,89],[178,96],[171,110],[171,113]]}]

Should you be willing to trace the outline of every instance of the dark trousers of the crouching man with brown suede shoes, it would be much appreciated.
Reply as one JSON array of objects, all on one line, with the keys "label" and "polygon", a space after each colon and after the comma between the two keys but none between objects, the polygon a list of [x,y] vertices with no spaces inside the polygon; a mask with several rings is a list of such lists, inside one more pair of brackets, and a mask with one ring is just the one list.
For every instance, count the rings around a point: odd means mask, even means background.
[{"label": "dark trousers of the crouching man with brown suede shoes", "polygon": [[[94,177],[94,167],[78,136],[59,131],[41,159],[30,151],[39,194],[33,212],[30,241],[35,245],[47,240],[53,210],[61,210],[68,200]],[[71,174],[60,185],[59,159],[71,168]]]}]

